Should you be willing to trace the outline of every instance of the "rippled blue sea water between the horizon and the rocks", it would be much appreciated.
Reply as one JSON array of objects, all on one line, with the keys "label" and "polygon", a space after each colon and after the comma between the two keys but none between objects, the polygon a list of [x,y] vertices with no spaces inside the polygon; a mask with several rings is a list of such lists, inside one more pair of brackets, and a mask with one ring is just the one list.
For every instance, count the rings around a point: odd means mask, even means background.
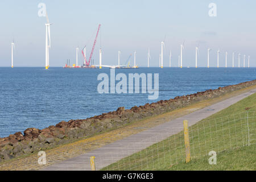
[{"label": "rippled blue sea water between the horizon and the rocks", "polygon": [[256,79],[256,68],[115,69],[127,77],[159,73],[159,97],[148,100],[148,93],[98,93],[100,73],[110,69],[0,68],[0,137]]}]

